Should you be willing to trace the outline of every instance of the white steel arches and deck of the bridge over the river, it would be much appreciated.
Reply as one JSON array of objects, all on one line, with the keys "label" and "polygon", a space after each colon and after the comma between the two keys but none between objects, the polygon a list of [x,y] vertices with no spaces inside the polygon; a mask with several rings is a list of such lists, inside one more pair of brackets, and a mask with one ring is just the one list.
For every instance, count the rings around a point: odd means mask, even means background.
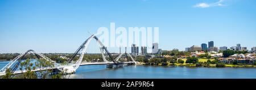
[{"label": "white steel arches and deck of the bridge over the river", "polygon": [[[84,57],[86,49],[88,48],[88,45],[89,45],[90,41],[93,38],[101,46],[100,47],[101,48],[101,55],[102,55],[102,59],[104,60],[104,62],[103,63],[82,63],[82,58]],[[104,51],[103,50],[105,50],[105,52],[108,53],[109,58],[110,58],[110,62],[106,60],[106,57],[104,55]],[[22,57],[24,57],[24,55],[26,55],[28,53],[33,53],[38,58],[42,57],[42,58],[46,59],[47,61],[50,61],[50,62],[54,63],[54,67],[53,68],[43,68],[43,69],[42,68],[40,68],[40,69],[38,68],[38,69],[32,70],[32,71],[47,70],[47,69],[57,69],[57,70],[60,70],[60,71],[65,71],[66,73],[73,73],[73,72],[76,72],[77,68],[79,68],[80,65],[97,65],[97,64],[99,64],[99,65],[122,65],[123,63],[133,63],[134,65],[136,65],[136,62],[135,62],[134,58],[129,53],[121,53],[121,54],[118,55],[117,58],[115,58],[115,59],[112,58],[111,54],[106,49],[106,47],[102,44],[102,42],[100,40],[98,40],[98,38],[95,35],[92,35],[79,47],[79,49],[76,50],[76,52],[73,54],[72,58],[68,59],[68,62],[69,62],[68,65],[60,65],[59,63],[56,63],[55,61],[52,61],[50,58],[46,57],[43,54],[36,53],[34,50],[28,50],[27,52],[24,52],[24,53],[18,55],[18,57],[14,58],[5,67],[3,67],[0,70],[0,76],[1,75],[5,75],[7,68],[10,68],[11,66],[13,66],[15,62],[17,62],[20,59],[22,59]],[[73,62],[74,58],[79,53],[81,53],[79,59],[76,62]],[[129,55],[129,57],[131,58],[132,61],[131,62],[119,62],[118,60],[119,60],[119,58],[122,57],[123,54]],[[15,70],[13,71],[14,74],[20,74],[20,73],[23,73],[23,72],[26,72],[26,71],[15,71]]]}]

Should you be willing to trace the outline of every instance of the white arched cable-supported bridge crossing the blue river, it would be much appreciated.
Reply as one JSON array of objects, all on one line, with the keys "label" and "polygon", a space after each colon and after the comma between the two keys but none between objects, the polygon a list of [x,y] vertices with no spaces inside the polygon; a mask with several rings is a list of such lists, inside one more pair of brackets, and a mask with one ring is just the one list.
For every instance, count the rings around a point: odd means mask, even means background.
[{"label": "white arched cable-supported bridge crossing the blue river", "polygon": [[[82,62],[86,49],[88,48],[89,43],[93,39],[96,40],[97,43],[100,45],[101,57],[103,59],[103,62],[86,62],[86,61]],[[11,73],[13,74],[22,74],[26,72],[26,70],[17,70],[17,68],[19,67],[20,63],[23,61],[25,55],[27,54],[34,54],[38,59],[43,58],[43,59],[46,59],[46,61],[53,63],[53,67],[35,68],[31,71],[53,70],[53,71],[73,74],[76,72],[79,66],[84,66],[84,65],[106,65],[107,68],[122,67],[124,64],[136,65],[134,58],[129,53],[126,53],[126,52],[120,53],[116,58],[113,58],[112,54],[109,53],[109,50],[106,49],[106,47],[102,44],[102,42],[98,39],[98,37],[96,37],[95,35],[92,35],[86,41],[84,41],[82,45],[76,50],[76,52],[73,53],[72,57],[68,59],[68,64],[61,65],[60,63],[56,63],[55,61],[46,57],[43,54],[36,53],[34,50],[27,50],[27,52],[24,52],[18,55],[13,60],[11,60],[5,67],[3,67],[0,70],[0,76],[5,75],[7,69],[10,69]],[[79,59],[76,60],[75,57],[77,57],[78,55],[80,55],[80,57]],[[127,61],[127,62],[119,61],[119,59],[123,55],[125,55],[124,57],[127,59],[128,57],[130,57],[131,61]],[[106,59],[106,57],[108,57],[108,60]]]}]

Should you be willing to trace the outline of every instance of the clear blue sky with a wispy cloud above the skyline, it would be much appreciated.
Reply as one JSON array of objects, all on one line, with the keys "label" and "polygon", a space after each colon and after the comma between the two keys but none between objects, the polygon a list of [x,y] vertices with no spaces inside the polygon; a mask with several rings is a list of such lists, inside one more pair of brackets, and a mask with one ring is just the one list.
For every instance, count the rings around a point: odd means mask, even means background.
[{"label": "clear blue sky with a wispy cloud above the skyline", "polygon": [[[159,47],[256,46],[254,0],[2,0],[0,53],[73,53],[99,27],[159,27]],[[118,52],[118,48],[110,49]]]}]

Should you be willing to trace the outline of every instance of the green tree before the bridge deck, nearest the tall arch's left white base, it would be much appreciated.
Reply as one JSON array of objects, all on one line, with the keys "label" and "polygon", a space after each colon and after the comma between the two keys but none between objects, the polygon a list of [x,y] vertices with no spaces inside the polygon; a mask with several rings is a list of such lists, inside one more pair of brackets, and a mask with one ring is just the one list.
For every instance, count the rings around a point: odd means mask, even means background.
[{"label": "green tree before the bridge deck, nearest the tall arch's left white base", "polygon": [[43,68],[52,68],[54,67],[54,63],[51,61],[47,61],[46,59],[39,59],[38,62],[35,62],[35,67],[39,68],[38,77],[41,79],[47,78],[51,71],[51,69],[42,70]]}]

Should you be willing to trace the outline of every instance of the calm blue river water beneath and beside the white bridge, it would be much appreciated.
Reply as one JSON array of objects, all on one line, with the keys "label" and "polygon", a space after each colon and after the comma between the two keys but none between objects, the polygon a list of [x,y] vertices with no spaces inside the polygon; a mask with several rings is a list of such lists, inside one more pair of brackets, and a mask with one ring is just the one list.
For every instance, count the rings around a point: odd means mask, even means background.
[{"label": "calm blue river water beneath and beside the white bridge", "polygon": [[[0,62],[0,68],[8,61]],[[125,66],[122,68],[106,68],[105,65],[80,66],[76,74],[70,78],[93,79],[256,79],[256,68],[204,68],[204,67],[155,67],[155,66]]]}]

